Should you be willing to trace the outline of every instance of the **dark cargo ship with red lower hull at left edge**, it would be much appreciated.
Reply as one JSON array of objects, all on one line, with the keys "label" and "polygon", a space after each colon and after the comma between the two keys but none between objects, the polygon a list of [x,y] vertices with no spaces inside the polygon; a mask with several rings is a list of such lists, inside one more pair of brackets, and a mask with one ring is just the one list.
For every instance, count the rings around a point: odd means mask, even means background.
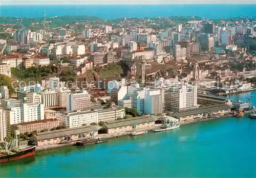
[{"label": "dark cargo ship with red lower hull at left edge", "polygon": [[35,143],[19,147],[19,131],[15,131],[15,139],[3,142],[0,146],[0,163],[15,161],[35,155]]}]

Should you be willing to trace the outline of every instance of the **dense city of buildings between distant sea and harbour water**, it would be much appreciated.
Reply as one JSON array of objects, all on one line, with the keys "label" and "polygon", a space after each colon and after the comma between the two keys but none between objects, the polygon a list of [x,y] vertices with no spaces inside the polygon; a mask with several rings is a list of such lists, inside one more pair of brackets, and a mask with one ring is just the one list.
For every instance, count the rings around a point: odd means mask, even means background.
[{"label": "dense city of buildings between distant sea and harbour water", "polygon": [[254,110],[226,98],[256,90],[254,18],[42,15],[0,17],[0,142],[100,143]]}]

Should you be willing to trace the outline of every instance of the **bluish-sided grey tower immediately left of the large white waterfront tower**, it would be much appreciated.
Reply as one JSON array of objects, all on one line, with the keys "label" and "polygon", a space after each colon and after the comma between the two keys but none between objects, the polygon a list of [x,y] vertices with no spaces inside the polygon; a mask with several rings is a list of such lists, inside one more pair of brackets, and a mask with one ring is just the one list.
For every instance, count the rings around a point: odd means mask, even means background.
[{"label": "bluish-sided grey tower immediately left of the large white waterfront tower", "polygon": [[163,112],[160,89],[146,89],[144,114],[160,114]]}]

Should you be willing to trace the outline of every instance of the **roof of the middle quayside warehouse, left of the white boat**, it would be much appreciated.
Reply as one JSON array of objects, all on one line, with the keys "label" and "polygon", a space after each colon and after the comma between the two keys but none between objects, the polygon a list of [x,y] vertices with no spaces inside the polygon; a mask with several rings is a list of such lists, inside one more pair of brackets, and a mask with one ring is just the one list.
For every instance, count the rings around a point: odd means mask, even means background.
[{"label": "roof of the middle quayside warehouse, left of the white boat", "polygon": [[133,117],[128,119],[120,119],[120,120],[114,120],[114,121],[108,121],[104,123],[102,126],[106,129],[112,129],[112,128],[118,128],[120,126],[127,126],[127,125],[133,125],[133,124],[140,124],[145,122],[152,122],[156,120],[156,116],[140,116],[140,117]]}]

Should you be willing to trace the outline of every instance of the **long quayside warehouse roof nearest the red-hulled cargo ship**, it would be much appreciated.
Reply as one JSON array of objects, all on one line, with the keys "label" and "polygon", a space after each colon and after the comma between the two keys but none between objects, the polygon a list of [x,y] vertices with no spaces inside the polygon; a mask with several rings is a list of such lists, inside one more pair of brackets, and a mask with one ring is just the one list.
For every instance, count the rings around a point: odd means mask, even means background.
[{"label": "long quayside warehouse roof nearest the red-hulled cargo ship", "polygon": [[62,137],[64,135],[76,135],[82,133],[89,133],[91,131],[98,131],[101,129],[101,126],[98,125],[85,125],[79,126],[77,128],[68,128],[68,129],[60,129],[56,131],[48,131],[48,132],[40,132],[37,133],[37,140],[46,140],[51,138]]}]

